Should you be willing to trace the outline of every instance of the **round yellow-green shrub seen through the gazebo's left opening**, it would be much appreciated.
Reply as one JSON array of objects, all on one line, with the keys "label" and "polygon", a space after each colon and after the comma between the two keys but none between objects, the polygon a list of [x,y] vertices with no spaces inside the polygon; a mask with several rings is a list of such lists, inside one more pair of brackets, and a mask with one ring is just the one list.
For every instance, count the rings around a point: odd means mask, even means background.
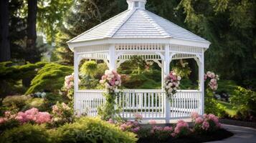
[{"label": "round yellow-green shrub seen through the gazebo's left opening", "polygon": [[95,76],[96,70],[98,69],[96,61],[85,61],[84,64],[82,64],[80,71],[82,75],[88,75],[90,77]]}]

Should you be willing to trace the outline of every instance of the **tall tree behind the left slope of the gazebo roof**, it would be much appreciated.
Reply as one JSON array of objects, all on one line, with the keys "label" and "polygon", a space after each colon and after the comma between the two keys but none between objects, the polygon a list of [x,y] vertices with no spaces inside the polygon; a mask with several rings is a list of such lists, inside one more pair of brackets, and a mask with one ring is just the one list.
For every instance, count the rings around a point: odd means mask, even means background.
[{"label": "tall tree behind the left slope of the gazebo roof", "polygon": [[65,16],[57,34],[57,53],[60,54],[65,64],[73,64],[72,51],[67,46],[67,41],[87,31],[93,26],[109,19],[127,9],[125,0],[77,0]]}]

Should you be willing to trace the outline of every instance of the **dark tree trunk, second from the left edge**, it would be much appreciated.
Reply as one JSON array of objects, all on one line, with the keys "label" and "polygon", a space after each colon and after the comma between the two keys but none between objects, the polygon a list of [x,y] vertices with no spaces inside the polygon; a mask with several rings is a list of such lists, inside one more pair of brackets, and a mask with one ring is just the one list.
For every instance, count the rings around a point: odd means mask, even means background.
[{"label": "dark tree trunk, second from the left edge", "polygon": [[27,16],[27,50],[28,55],[26,60],[34,63],[37,59],[34,57],[37,52],[37,0],[28,1],[28,16]]}]

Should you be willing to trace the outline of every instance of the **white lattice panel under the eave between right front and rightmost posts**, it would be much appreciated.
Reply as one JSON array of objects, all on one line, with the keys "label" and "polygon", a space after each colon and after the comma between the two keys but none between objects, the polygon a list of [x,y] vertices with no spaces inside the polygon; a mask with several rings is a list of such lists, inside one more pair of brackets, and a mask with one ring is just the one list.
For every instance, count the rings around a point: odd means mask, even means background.
[{"label": "white lattice panel under the eave between right front and rightmost posts", "polygon": [[196,46],[182,46],[171,44],[170,51],[174,52],[182,52],[182,53],[194,53],[194,54],[202,54],[202,48]]}]

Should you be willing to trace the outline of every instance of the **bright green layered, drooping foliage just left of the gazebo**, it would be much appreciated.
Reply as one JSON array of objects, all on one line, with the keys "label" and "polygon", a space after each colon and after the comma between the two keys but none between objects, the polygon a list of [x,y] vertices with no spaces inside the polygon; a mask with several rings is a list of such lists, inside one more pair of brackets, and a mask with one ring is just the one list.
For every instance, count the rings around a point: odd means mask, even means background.
[{"label": "bright green layered, drooping foliage just left of the gazebo", "polygon": [[32,80],[31,87],[26,94],[35,92],[55,92],[57,93],[63,86],[65,76],[72,74],[72,67],[60,64],[47,64],[38,71]]}]

